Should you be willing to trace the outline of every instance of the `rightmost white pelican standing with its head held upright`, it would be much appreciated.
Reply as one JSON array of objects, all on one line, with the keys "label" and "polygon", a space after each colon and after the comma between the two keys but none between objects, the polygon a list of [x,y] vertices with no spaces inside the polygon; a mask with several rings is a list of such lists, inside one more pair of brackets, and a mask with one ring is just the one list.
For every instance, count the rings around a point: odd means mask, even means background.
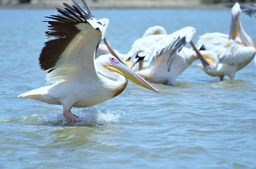
[{"label": "rightmost white pelican standing with its head held upright", "polygon": [[[204,70],[210,76],[219,76],[222,81],[227,75],[231,80],[235,73],[251,62],[256,52],[256,45],[246,34],[240,22],[240,5],[234,4],[231,10],[232,21],[229,35],[223,33],[206,33],[200,36],[198,45],[201,49],[214,52],[219,58],[219,66],[215,70]],[[239,37],[237,37],[237,35]]]}]

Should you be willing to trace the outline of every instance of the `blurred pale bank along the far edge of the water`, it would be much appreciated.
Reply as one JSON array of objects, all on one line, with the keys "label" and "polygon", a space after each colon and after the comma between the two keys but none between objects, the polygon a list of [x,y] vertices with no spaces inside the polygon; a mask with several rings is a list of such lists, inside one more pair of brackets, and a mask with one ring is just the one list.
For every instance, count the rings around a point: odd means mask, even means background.
[{"label": "blurred pale bank along the far edge of the water", "polygon": [[[223,4],[201,4],[200,0],[87,0],[92,9],[225,9]],[[29,4],[1,4],[1,9],[53,9],[63,7],[62,3],[70,3],[70,0],[32,0]]]}]

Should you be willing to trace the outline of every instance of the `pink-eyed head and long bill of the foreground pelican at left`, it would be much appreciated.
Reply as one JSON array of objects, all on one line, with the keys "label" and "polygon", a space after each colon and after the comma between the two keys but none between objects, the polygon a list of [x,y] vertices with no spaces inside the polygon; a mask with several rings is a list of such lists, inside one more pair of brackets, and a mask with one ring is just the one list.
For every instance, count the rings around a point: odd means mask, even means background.
[{"label": "pink-eyed head and long bill of the foreground pelican at left", "polygon": [[[140,77],[138,74],[133,72],[131,69],[125,66],[125,64],[120,62],[118,59],[116,59],[116,57],[112,56],[111,54],[101,55],[96,60],[97,61],[100,60],[99,64],[101,64],[101,66],[103,66],[105,69],[110,70],[108,72],[109,77],[111,77],[112,73],[117,72],[122,76],[130,79],[132,82],[142,87],[145,87],[146,89],[159,93],[159,90],[155,89],[155,87],[149,84],[146,80],[142,79],[142,77]],[[106,71],[104,74],[106,74]]]}]

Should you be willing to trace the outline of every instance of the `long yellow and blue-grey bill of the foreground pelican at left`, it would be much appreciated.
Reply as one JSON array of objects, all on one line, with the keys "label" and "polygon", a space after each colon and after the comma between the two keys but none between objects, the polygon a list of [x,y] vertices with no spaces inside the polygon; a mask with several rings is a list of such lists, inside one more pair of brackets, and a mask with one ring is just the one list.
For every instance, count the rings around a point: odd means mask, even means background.
[{"label": "long yellow and blue-grey bill of the foreground pelican at left", "polygon": [[150,83],[148,83],[146,80],[142,79],[138,74],[133,72],[131,69],[129,69],[125,64],[121,63],[120,61],[116,63],[111,63],[109,66],[102,65],[106,69],[113,70],[115,72],[118,72],[122,74],[124,77],[130,79],[132,82],[145,87],[146,89],[153,90],[154,92],[159,93],[159,90],[157,90],[154,86],[152,86]]}]

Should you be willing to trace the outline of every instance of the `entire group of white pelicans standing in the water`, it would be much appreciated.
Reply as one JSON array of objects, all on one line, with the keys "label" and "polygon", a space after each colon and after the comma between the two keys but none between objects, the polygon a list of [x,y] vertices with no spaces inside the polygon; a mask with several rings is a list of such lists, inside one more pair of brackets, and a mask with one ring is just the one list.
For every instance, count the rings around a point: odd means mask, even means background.
[{"label": "entire group of white pelicans standing in the water", "polygon": [[[79,120],[72,107],[88,107],[119,95],[132,82],[159,93],[153,83],[175,85],[176,78],[194,60],[210,76],[229,76],[251,62],[256,45],[244,31],[238,3],[232,8],[229,34],[207,33],[192,42],[196,29],[184,27],[167,34],[161,26],[150,27],[135,40],[127,54],[113,49],[105,38],[109,20],[95,19],[85,0],[82,7],[64,3],[59,14],[47,18],[49,31],[39,56],[39,66],[46,71],[46,83],[23,93],[28,97],[63,106],[63,116]],[[101,44],[103,41],[105,44]],[[184,47],[190,43],[192,48]]]}]

